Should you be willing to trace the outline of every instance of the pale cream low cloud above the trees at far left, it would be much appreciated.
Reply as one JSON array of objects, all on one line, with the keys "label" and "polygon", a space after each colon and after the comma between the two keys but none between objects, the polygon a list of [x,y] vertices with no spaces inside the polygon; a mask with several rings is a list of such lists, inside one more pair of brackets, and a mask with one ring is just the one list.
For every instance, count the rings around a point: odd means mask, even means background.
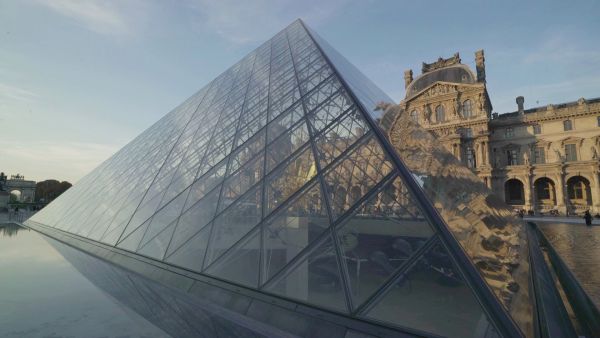
[{"label": "pale cream low cloud above the trees at far left", "polygon": [[75,183],[114,154],[120,146],[98,143],[0,141],[0,171],[33,180]]}]

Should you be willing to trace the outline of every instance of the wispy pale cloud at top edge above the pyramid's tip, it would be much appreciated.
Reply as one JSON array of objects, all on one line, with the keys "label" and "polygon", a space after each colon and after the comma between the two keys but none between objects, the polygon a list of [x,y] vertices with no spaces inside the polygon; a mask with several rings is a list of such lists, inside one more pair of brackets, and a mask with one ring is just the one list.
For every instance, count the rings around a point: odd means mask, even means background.
[{"label": "wispy pale cloud at top edge above the pyramid's tip", "polygon": [[319,25],[351,0],[188,0],[192,25],[236,44],[262,41],[294,19]]}]

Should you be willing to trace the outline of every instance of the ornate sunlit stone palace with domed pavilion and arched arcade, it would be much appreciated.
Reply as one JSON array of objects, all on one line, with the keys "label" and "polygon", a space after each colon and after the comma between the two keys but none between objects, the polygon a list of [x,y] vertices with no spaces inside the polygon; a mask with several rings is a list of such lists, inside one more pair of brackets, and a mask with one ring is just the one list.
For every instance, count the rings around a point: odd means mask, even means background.
[{"label": "ornate sunlit stone palace with domed pavilion and arched arcade", "polygon": [[458,53],[404,73],[410,119],[515,209],[600,212],[600,98],[492,113],[483,50],[475,72]]}]

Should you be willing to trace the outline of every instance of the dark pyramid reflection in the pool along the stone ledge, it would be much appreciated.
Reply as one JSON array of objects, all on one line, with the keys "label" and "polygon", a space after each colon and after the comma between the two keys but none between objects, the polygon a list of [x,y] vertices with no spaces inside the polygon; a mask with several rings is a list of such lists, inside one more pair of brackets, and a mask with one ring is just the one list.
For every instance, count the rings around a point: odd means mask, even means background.
[{"label": "dark pyramid reflection in the pool along the stone ledge", "polygon": [[45,238],[94,285],[173,337],[290,336]]}]

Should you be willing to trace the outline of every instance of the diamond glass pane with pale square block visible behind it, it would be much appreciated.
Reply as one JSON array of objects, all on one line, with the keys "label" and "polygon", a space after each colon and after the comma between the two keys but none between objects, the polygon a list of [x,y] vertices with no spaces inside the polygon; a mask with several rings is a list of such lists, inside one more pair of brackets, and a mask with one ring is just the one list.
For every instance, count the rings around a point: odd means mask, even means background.
[{"label": "diamond glass pane with pale square block visible behind it", "polygon": [[287,206],[262,224],[263,274],[268,281],[329,228],[325,200],[313,183]]}]

